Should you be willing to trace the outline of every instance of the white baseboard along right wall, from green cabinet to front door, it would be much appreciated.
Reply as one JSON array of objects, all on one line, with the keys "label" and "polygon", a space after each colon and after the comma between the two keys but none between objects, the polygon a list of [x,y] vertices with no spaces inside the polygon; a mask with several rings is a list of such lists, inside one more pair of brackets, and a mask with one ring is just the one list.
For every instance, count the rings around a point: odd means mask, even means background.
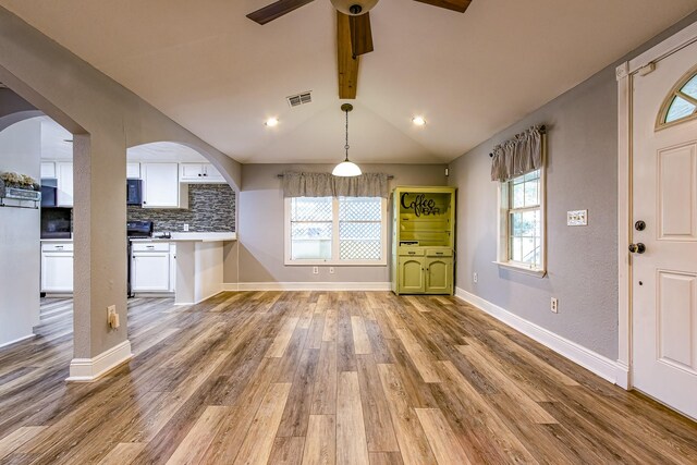
[{"label": "white baseboard along right wall, from green cabinet to front door", "polygon": [[[538,325],[535,325],[534,322],[521,318],[517,315],[512,314],[511,311],[501,308],[489,301],[486,301],[477,295],[465,291],[464,289],[455,287],[455,297],[470,305],[474,305],[482,311],[491,315],[499,321],[504,322],[511,328],[534,339],[535,341],[551,348],[558,354],[563,355],[575,364],[578,364],[582,367],[592,371],[600,378],[623,387],[623,367],[621,367],[616,362],[613,362],[610,358],[590,351],[573,341],[562,338],[561,335],[555,334]],[[624,369],[628,375],[628,369],[626,367],[624,367]],[[624,376],[624,379],[627,379],[626,375]]]}]

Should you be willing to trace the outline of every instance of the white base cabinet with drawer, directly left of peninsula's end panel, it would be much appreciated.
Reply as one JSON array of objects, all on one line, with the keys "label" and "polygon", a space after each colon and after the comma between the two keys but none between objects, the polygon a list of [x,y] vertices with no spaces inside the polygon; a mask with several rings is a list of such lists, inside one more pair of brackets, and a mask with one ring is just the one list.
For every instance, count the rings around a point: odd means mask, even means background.
[{"label": "white base cabinet with drawer, directly left of peninsula's end panel", "polygon": [[171,292],[170,245],[133,244],[131,289],[133,292]]}]

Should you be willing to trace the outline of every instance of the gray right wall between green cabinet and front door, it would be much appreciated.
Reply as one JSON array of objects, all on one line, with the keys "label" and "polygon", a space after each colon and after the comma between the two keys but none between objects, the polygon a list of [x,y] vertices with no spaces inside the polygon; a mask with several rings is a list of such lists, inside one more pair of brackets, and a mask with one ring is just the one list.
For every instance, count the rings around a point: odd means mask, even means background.
[{"label": "gray right wall between green cabinet and front door", "polygon": [[[451,164],[457,191],[456,286],[611,359],[617,356],[617,96],[615,68],[638,50],[498,133]],[[668,90],[668,89],[667,89]],[[489,152],[533,124],[547,124],[548,276],[492,264],[497,258],[497,184]],[[566,227],[566,211],[588,209],[588,227]],[[626,244],[621,244],[622,247]],[[473,273],[478,273],[478,283]],[[559,314],[550,297],[559,298]]]}]

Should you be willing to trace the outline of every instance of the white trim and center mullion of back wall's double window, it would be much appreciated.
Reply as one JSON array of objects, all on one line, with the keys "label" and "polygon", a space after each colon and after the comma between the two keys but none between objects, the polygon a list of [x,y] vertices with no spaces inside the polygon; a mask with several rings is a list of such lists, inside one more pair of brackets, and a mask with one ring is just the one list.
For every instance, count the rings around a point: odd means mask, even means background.
[{"label": "white trim and center mullion of back wall's double window", "polygon": [[380,209],[382,210],[382,220],[380,221],[380,243],[381,259],[380,260],[341,260],[339,248],[339,198],[332,197],[332,242],[331,256],[335,259],[317,260],[317,259],[295,259],[291,258],[291,197],[284,198],[285,218],[283,230],[284,242],[284,264],[288,266],[331,266],[331,267],[386,267],[388,265],[388,203],[386,198],[380,198]]}]

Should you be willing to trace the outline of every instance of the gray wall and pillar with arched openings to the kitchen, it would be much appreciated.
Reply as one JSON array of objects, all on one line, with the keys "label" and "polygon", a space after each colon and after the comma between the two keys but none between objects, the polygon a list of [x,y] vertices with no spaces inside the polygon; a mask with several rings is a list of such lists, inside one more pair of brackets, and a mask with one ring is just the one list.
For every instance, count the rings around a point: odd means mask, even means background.
[{"label": "gray wall and pillar with arched openings to the kitchen", "polygon": [[[0,82],[74,134],[74,356],[124,342],[126,148],[160,140],[199,151],[233,186],[241,166],[155,107],[0,8]],[[122,326],[110,330],[107,307]]]}]

